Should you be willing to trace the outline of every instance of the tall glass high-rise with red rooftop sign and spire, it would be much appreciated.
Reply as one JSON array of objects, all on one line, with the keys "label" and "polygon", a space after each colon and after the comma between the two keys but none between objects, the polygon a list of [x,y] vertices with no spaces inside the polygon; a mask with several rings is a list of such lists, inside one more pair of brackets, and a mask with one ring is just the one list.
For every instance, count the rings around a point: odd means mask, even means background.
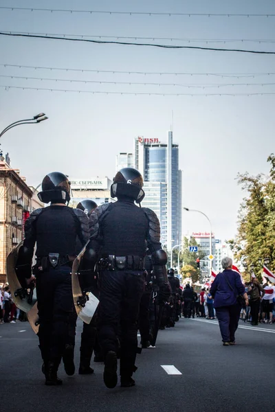
[{"label": "tall glass high-rise with red rooftop sign and spire", "polygon": [[146,196],[142,205],[157,214],[162,242],[170,251],[175,244],[181,244],[181,170],[179,145],[173,144],[173,132],[168,132],[167,143],[136,137],[134,160],[135,168],[144,177]]}]

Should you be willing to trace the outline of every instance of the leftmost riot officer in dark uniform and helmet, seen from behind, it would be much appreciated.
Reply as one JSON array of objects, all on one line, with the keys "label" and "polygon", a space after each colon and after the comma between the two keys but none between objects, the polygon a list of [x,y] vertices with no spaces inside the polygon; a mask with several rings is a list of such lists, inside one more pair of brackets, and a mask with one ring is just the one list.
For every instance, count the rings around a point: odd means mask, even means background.
[{"label": "leftmost riot officer in dark uniform and helmet, seen from behind", "polygon": [[44,177],[38,196],[50,206],[36,209],[25,222],[25,239],[17,262],[18,270],[30,278],[36,243],[34,275],[45,385],[62,384],[57,377],[62,356],[67,374],[74,373],[72,353],[65,351],[69,316],[74,307],[71,270],[76,258],[76,238],[83,246],[89,240],[89,219],[84,211],[66,206],[69,192],[70,183],[65,174],[52,172]]}]

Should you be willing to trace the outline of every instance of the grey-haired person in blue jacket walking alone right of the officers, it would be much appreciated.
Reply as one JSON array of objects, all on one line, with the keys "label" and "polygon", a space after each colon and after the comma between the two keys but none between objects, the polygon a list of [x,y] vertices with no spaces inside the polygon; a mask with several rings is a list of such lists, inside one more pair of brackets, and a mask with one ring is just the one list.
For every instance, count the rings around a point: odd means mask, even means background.
[{"label": "grey-haired person in blue jacket walking alone right of the officers", "polygon": [[248,306],[248,294],[241,283],[238,272],[232,271],[232,259],[221,260],[223,272],[219,273],[212,283],[210,295],[214,297],[214,308],[219,321],[224,346],[235,345],[235,332],[238,328],[241,304],[237,297],[243,296]]}]

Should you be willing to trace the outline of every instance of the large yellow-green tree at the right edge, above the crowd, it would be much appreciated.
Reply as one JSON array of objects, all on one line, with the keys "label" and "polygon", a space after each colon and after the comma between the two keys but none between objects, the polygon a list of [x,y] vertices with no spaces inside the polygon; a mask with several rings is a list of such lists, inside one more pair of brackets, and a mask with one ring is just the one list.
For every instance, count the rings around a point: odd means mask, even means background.
[{"label": "large yellow-green tree at the right edge, above the crowd", "polygon": [[248,265],[254,264],[260,275],[259,259],[270,258],[270,269],[275,271],[275,156],[267,161],[270,174],[250,176],[248,172],[237,176],[238,183],[247,192],[239,209],[238,233],[235,240],[228,240],[234,256]]}]

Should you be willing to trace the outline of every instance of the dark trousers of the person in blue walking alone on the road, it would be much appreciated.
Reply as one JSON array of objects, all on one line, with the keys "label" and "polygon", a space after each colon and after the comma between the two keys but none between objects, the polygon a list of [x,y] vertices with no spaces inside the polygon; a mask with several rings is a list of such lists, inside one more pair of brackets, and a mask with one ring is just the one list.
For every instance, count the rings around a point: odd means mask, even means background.
[{"label": "dark trousers of the person in blue walking alone on the road", "polygon": [[223,342],[234,342],[235,332],[238,328],[241,313],[241,306],[235,304],[215,309]]}]

